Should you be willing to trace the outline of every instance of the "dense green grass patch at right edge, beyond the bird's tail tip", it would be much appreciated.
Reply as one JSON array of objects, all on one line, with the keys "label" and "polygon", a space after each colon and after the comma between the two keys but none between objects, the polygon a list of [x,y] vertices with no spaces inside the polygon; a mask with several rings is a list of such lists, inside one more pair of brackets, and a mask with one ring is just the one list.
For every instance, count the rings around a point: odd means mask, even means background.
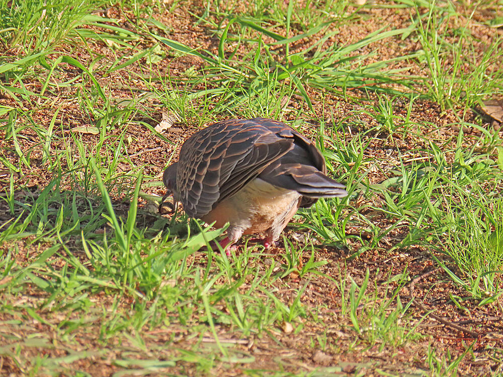
[{"label": "dense green grass patch at right edge, beyond the bird's tail tip", "polygon": [[[460,133],[459,146],[462,137]],[[432,241],[442,245],[442,252],[464,271],[464,278],[449,272],[457,283],[479,299],[481,292],[498,297],[495,281],[500,281],[503,262],[497,194],[501,170],[487,154],[475,153],[473,148],[453,151],[454,162],[448,163],[438,146],[431,142],[430,146],[433,153],[428,162],[404,164],[400,159],[396,175],[373,186],[383,190],[382,210],[398,222],[411,224],[406,238],[395,247]],[[464,279],[466,283],[461,282]]]}]

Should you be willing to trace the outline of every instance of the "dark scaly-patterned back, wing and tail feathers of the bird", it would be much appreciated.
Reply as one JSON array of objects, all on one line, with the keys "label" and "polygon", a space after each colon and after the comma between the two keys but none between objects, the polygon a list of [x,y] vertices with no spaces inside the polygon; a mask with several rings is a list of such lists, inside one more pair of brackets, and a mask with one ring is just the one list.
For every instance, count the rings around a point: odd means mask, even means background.
[{"label": "dark scaly-patterned back, wing and tail feathers of the bird", "polygon": [[201,218],[260,177],[299,192],[300,205],[308,207],[320,197],[347,195],[325,173],[316,146],[291,127],[264,118],[234,119],[210,125],[183,144],[177,192],[185,212]]}]

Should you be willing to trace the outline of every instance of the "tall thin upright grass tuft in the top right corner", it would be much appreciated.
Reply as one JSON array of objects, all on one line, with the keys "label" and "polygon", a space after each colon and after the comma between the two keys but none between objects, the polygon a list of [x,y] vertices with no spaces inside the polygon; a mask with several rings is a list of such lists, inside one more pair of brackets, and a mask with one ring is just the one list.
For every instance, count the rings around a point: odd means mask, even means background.
[{"label": "tall thin upright grass tuft in the top right corner", "polygon": [[430,72],[430,80],[425,84],[428,95],[444,110],[458,104],[473,107],[483,98],[501,95],[503,69],[496,63],[501,36],[494,34],[482,55],[477,56],[474,44],[480,41],[468,29],[475,12],[470,13],[463,25],[452,29],[452,20],[459,15],[450,3],[446,4],[441,12],[435,2],[426,5],[428,12],[424,15],[416,9],[417,36],[424,51],[421,59]]}]

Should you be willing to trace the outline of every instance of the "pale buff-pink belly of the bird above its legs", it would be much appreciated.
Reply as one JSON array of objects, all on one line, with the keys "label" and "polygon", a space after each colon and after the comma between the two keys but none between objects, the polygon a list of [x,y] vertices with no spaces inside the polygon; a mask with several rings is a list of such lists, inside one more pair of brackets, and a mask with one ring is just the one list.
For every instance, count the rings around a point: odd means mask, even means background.
[{"label": "pale buff-pink belly of the bird above its legs", "polygon": [[[207,223],[215,221],[221,228],[229,222],[239,227],[243,234],[264,232],[273,222],[298,208],[300,194],[296,191],[274,186],[260,178],[246,184],[242,190],[220,202],[201,219]],[[296,206],[295,209],[292,207]],[[289,221],[287,219],[286,221]]]}]

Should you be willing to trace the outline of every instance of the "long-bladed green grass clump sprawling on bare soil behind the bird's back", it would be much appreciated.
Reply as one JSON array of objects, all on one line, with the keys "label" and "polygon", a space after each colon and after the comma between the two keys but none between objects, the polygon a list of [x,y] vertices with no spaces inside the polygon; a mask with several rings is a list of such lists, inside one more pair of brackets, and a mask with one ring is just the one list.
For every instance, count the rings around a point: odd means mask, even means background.
[{"label": "long-bladed green grass clump sprawling on bare soil behind the bird's back", "polygon": [[[238,46],[241,43],[239,35],[232,39],[229,34],[229,28],[233,23],[258,32],[258,36],[254,39],[243,39],[243,42],[255,45],[255,47],[237,62],[232,58],[238,47],[230,52],[225,49],[228,42],[237,40]],[[315,35],[329,24],[322,24],[306,33],[287,38],[254,22],[236,17],[229,21],[221,33],[218,55],[210,51],[193,50],[179,42],[150,35],[180,54],[194,55],[203,59],[207,63],[203,69],[204,73],[199,72],[196,77],[189,78],[188,82],[193,86],[211,82],[211,88],[199,96],[209,92],[212,97],[219,97],[218,101],[221,104],[225,103],[228,109],[246,106],[256,102],[256,99],[258,99],[256,107],[259,109],[261,105],[263,107],[265,103],[270,103],[270,98],[275,98],[278,92],[284,93],[283,87],[286,92],[293,90],[301,96],[309,109],[313,111],[307,87],[336,92],[345,96],[347,88],[361,87],[362,85],[366,90],[395,92],[392,89],[384,88],[382,84],[392,82],[402,85],[409,84],[407,80],[397,81],[393,78],[399,70],[383,70],[386,64],[405,59],[405,57],[397,57],[387,62],[379,62],[379,64],[363,65],[361,62],[369,56],[355,54],[358,49],[370,43],[400,34],[401,30],[379,30],[351,45],[345,47],[332,45],[325,48],[327,39],[334,33],[331,32],[316,39],[307,50],[294,54],[288,53],[290,44]],[[271,37],[275,42],[265,43],[263,36]],[[284,46],[284,51],[286,51],[284,56],[277,54],[278,46]],[[358,68],[355,69],[355,66]],[[187,82],[187,80],[184,81]],[[229,88],[232,90],[229,91]],[[262,98],[266,93],[269,93],[271,97],[263,101]],[[287,96],[286,101],[289,98]]]}]

